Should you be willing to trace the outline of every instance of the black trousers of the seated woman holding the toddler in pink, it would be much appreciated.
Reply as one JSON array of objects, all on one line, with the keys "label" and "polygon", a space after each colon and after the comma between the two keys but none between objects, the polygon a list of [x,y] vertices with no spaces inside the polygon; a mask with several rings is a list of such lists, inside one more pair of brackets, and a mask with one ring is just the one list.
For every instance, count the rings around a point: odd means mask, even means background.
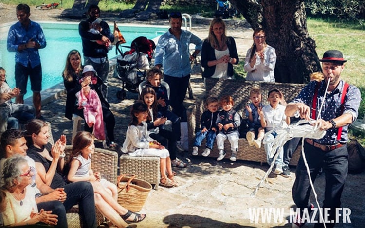
[{"label": "black trousers of the seated woman holding the toddler in pink", "polygon": [[[80,116],[85,120],[84,110],[78,109],[77,106],[73,109],[73,114]],[[105,123],[105,127],[107,129],[107,137],[110,142],[114,142],[114,127],[115,127],[115,118],[114,114],[110,111],[109,108],[103,107],[103,120]],[[92,132],[92,127],[89,127],[87,123],[85,123],[84,130],[88,132]]]}]

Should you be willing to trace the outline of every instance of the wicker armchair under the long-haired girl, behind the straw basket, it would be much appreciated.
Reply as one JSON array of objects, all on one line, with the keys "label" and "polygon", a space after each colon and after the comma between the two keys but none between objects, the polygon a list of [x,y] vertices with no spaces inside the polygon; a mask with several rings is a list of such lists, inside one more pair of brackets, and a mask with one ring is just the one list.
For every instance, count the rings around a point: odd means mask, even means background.
[{"label": "wicker armchair under the long-haired girl, behind the straw basket", "polygon": [[[66,146],[66,160],[68,160],[71,153],[72,146]],[[95,152],[92,155],[91,169],[96,172],[100,172],[102,178],[110,181],[111,183],[117,182],[117,168],[118,168],[118,154],[114,151],[105,150],[101,148],[95,148]],[[96,209],[96,208],[95,208]],[[67,211],[67,224],[70,228],[80,228],[82,222],[78,214],[78,205],[73,206]],[[104,216],[96,209],[96,222],[100,225],[104,221]]]}]

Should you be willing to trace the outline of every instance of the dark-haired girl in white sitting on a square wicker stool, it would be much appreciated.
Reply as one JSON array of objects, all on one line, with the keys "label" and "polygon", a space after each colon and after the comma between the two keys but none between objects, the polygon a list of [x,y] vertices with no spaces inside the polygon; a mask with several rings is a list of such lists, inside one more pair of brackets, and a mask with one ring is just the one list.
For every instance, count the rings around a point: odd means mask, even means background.
[{"label": "dark-haired girl in white sitting on a square wicker stool", "polygon": [[[177,183],[172,172],[170,154],[159,142],[148,135],[147,130],[147,105],[137,101],[130,111],[131,122],[129,123],[126,140],[123,143],[122,152],[131,156],[158,156],[160,157],[160,185],[173,187]],[[166,175],[167,173],[167,175]]]}]

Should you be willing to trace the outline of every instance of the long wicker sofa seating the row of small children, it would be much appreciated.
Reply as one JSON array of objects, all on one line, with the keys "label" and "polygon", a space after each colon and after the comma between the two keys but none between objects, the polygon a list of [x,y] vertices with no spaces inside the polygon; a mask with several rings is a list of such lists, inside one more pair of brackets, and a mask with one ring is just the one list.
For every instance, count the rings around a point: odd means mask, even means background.
[{"label": "long wicker sofa seating the row of small children", "polygon": [[[262,103],[264,105],[268,104],[267,102],[267,94],[273,89],[277,88],[281,90],[284,94],[285,100],[287,102],[292,101],[295,96],[300,92],[300,90],[305,86],[304,84],[287,84],[287,83],[269,83],[269,82],[253,82],[253,81],[243,81],[243,80],[221,80],[214,78],[205,78],[205,97],[207,94],[209,96],[215,96],[217,98],[222,97],[223,95],[231,95],[235,101],[234,108],[238,111],[239,114],[243,118],[245,116],[245,105],[250,103],[249,94],[252,86],[254,84],[258,84],[261,88],[262,93]],[[195,132],[200,130],[200,118],[201,114],[204,112],[204,100],[197,99],[196,104],[192,105],[188,108],[188,132],[189,132],[189,147],[190,151],[192,151],[192,145],[195,139]],[[241,136],[244,138],[240,138],[238,141],[238,160],[246,160],[246,161],[256,161],[262,163],[266,163],[266,153],[263,146],[260,149],[256,147],[249,146],[245,136]],[[199,155],[205,149],[205,140],[203,140],[201,147],[199,148]],[[298,163],[300,157],[300,149],[294,152],[292,155],[292,159],[290,161],[291,165],[296,165]],[[224,143],[224,150],[227,152],[225,158],[229,158],[231,156],[230,143],[228,140]],[[213,150],[211,151],[209,157],[217,158],[219,151],[217,149],[216,143],[213,146]]]}]

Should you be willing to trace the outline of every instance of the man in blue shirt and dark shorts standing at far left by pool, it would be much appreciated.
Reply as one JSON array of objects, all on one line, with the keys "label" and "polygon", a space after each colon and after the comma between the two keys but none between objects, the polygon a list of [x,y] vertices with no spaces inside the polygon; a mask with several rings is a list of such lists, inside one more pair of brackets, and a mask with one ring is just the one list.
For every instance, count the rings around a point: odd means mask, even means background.
[{"label": "man in blue shirt and dark shorts standing at far left by pool", "polygon": [[18,22],[9,29],[7,49],[9,52],[15,52],[15,86],[20,89],[16,103],[24,103],[29,76],[37,118],[42,118],[40,112],[42,66],[38,49],[45,48],[47,43],[42,28],[38,23],[31,21],[29,16],[29,6],[19,4],[17,6]]}]

